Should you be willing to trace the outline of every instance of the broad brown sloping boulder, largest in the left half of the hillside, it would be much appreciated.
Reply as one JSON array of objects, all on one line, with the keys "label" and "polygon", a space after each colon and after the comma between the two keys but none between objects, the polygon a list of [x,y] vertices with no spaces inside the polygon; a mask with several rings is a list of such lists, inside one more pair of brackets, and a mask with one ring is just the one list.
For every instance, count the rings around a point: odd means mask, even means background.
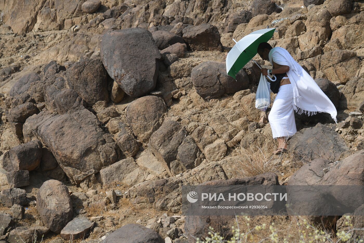
[{"label": "broad brown sloping boulder, largest in the left half of the hillside", "polygon": [[75,184],[116,162],[120,156],[112,136],[83,107],[62,115],[42,111],[27,119],[23,132],[26,141],[42,140]]}]

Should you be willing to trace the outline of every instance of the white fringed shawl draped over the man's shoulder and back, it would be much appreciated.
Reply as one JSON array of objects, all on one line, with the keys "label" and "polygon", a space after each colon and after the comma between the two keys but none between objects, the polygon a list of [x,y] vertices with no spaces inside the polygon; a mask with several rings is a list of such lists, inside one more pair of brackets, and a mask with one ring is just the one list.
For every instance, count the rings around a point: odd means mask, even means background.
[{"label": "white fringed shawl draped over the man's shoulder and back", "polygon": [[312,116],[317,112],[327,112],[337,123],[335,105],[286,49],[274,47],[270,50],[269,61],[272,66],[273,60],[279,65],[289,66],[287,76],[293,88],[292,105],[298,114],[305,113]]}]

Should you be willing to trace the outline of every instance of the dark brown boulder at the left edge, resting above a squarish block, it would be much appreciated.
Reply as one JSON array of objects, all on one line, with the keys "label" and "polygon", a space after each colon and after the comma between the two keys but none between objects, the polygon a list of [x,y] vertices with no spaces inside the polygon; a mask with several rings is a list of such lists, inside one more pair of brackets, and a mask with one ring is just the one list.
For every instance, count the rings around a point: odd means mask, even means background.
[{"label": "dark brown boulder at the left edge, resting above a squarish block", "polygon": [[4,154],[4,169],[7,171],[36,169],[40,165],[42,147],[39,140],[33,140],[11,148]]}]

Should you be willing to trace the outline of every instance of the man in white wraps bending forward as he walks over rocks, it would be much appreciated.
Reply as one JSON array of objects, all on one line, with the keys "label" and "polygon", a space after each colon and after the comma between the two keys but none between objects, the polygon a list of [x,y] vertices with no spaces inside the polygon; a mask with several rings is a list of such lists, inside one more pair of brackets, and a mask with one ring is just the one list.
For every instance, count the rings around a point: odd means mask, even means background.
[{"label": "man in white wraps bending forward as he walks over rocks", "polygon": [[258,46],[258,54],[273,66],[273,69],[262,68],[263,75],[285,73],[281,80],[276,81],[280,82],[279,86],[278,83],[271,83],[272,87],[278,87],[276,99],[268,115],[273,139],[278,141],[278,149],[274,154],[286,152],[286,141],[297,132],[294,111],[309,116],[317,112],[327,112],[337,123],[335,105],[286,49],[272,48],[269,43],[262,42]]}]

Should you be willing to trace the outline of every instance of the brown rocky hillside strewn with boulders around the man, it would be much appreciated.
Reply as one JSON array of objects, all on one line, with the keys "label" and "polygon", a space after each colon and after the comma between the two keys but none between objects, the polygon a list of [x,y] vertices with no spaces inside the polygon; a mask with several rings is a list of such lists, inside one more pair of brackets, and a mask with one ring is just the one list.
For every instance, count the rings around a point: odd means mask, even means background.
[{"label": "brown rocky hillside strewn with boulders around the man", "polygon": [[[195,242],[209,226],[229,235],[234,218],[182,216],[183,185],[364,184],[363,0],[0,10],[0,243]],[[259,69],[249,62],[234,80],[224,62],[233,38],[267,26],[339,121],[296,114],[279,156],[269,109],[255,108]]]}]

